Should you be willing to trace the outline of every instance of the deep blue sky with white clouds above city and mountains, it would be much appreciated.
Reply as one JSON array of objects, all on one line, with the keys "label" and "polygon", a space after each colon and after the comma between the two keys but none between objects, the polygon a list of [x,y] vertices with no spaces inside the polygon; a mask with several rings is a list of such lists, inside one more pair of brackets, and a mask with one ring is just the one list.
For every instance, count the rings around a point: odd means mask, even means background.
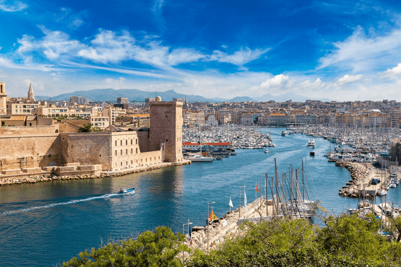
[{"label": "deep blue sky with white clouds above city and mountains", "polygon": [[401,101],[398,1],[0,0],[11,97],[99,88]]}]

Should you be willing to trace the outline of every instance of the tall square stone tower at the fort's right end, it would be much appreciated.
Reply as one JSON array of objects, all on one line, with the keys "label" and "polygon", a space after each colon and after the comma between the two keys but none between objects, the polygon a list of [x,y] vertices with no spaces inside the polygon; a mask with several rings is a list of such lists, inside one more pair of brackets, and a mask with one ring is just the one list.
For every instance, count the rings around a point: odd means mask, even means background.
[{"label": "tall square stone tower at the fort's right end", "polygon": [[162,149],[165,161],[182,161],[182,102],[149,102],[149,151]]}]

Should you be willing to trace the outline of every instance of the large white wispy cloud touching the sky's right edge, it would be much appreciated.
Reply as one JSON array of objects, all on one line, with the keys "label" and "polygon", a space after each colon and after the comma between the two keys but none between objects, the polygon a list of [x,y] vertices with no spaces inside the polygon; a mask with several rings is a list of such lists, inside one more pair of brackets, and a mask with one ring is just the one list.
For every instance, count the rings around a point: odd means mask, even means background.
[{"label": "large white wispy cloud touching the sky's right edge", "polygon": [[389,62],[401,61],[401,30],[397,28],[385,34],[370,30],[366,35],[358,26],[350,37],[333,46],[335,49],[319,60],[319,69],[339,67],[353,72],[372,71]]}]

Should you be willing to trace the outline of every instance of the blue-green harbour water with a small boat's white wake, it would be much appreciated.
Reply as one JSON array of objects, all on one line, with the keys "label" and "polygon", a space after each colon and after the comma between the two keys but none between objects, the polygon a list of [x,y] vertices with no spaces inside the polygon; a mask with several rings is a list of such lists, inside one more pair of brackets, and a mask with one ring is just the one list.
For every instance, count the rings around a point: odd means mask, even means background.
[{"label": "blue-green harbour water with a small boat's white wake", "polygon": [[[269,154],[264,149],[238,149],[237,156],[212,163],[123,177],[0,187],[0,266],[53,266],[98,247],[102,240],[135,236],[159,225],[182,231],[188,219],[193,225],[205,225],[208,202],[216,202],[210,208],[218,217],[229,211],[230,196],[234,208],[238,207],[239,186],[246,185],[248,203],[253,201],[261,175],[274,175],[274,157],[280,173],[288,173],[290,164],[301,167],[306,158],[308,187],[316,192],[313,198],[330,211],[354,208],[357,199],[338,195],[349,172],[323,157],[329,142],[316,139],[316,156],[310,157],[308,136],[282,137],[281,130],[271,128],[276,147],[269,148]],[[135,187],[135,194],[116,195],[120,187]]]}]

